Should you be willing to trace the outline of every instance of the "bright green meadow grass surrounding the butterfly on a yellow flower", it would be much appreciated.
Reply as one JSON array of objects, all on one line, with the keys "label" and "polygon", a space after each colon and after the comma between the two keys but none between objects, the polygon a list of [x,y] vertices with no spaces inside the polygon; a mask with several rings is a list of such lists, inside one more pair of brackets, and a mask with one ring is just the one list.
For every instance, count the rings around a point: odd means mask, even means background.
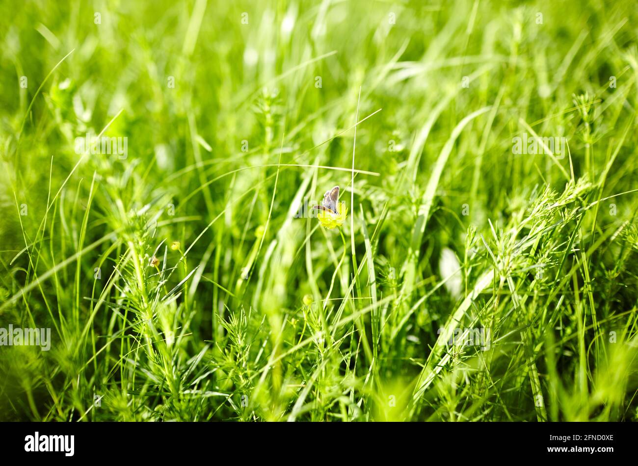
[{"label": "bright green meadow grass surrounding the butterfly on a yellow flower", "polygon": [[638,420],[634,2],[0,6],[0,419]]}]

